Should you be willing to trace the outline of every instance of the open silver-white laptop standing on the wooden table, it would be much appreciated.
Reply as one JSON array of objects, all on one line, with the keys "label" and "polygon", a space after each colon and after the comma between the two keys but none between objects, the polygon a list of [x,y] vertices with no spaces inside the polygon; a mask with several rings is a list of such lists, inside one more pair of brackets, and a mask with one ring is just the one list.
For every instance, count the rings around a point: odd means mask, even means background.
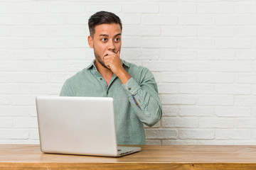
[{"label": "open silver-white laptop standing on the wooden table", "polygon": [[140,147],[117,147],[113,98],[36,97],[41,151],[121,157]]}]

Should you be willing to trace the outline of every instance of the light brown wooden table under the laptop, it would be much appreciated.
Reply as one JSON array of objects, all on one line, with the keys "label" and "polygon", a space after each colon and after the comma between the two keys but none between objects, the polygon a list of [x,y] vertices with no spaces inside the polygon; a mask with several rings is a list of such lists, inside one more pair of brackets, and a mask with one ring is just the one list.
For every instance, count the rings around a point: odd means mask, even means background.
[{"label": "light brown wooden table under the laptop", "polygon": [[124,157],[43,154],[39,145],[0,145],[0,169],[256,169],[256,146],[149,146]]}]

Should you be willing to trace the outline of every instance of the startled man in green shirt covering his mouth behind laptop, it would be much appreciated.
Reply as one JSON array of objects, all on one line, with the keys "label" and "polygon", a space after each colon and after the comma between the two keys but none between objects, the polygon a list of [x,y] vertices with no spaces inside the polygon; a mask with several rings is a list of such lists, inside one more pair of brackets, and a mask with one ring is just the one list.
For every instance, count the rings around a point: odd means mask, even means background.
[{"label": "startled man in green shirt covering his mouth behind laptop", "polygon": [[[118,145],[145,145],[144,125],[161,118],[156,81],[149,69],[121,60],[122,22],[114,13],[92,15],[88,43],[95,60],[65,84],[60,96],[114,98]],[[100,107],[100,106],[99,106]]]}]

